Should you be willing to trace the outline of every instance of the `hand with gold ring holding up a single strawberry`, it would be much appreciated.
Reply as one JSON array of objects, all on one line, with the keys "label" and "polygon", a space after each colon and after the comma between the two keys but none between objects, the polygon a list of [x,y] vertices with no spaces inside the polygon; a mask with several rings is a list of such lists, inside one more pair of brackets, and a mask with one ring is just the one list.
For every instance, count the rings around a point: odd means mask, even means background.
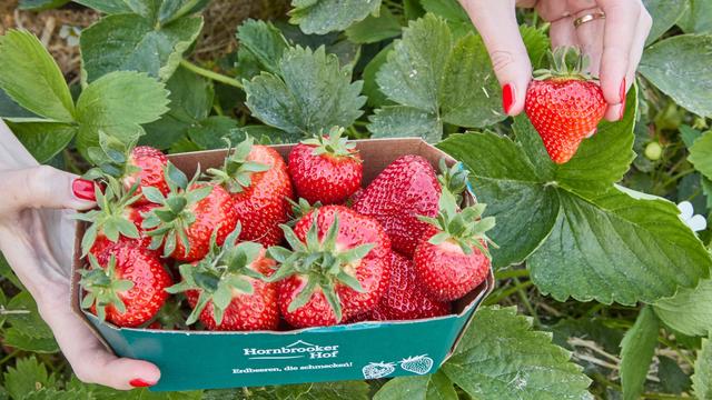
[{"label": "hand with gold ring holding up a single strawberry", "polygon": [[[633,84],[653,23],[641,0],[461,0],[487,47],[510,116],[524,110],[532,64],[520,34],[515,7],[534,8],[551,22],[552,47],[578,46],[591,58],[590,72],[601,78],[609,108],[605,118],[617,121],[625,110],[625,93]],[[604,12],[574,27],[577,18]]]}]

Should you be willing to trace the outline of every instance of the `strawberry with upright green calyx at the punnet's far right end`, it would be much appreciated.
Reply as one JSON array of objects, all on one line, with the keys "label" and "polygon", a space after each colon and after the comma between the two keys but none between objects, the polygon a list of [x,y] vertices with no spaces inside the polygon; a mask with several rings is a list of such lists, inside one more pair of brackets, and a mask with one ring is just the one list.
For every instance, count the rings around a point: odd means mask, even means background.
[{"label": "strawberry with upright green calyx at the punnet's far right end", "polygon": [[437,218],[422,217],[431,226],[415,249],[418,280],[435,300],[452,301],[475,289],[490,271],[490,239],[494,218],[479,219],[485,204],[458,211],[455,197],[443,190]]}]

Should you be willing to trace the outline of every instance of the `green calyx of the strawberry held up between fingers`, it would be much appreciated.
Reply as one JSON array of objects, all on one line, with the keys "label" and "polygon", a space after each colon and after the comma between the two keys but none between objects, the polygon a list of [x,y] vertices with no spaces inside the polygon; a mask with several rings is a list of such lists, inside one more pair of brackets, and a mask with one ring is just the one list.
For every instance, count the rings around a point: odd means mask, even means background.
[{"label": "green calyx of the strawberry held up between fingers", "polygon": [[551,63],[550,69],[534,71],[535,80],[592,80],[593,77],[586,70],[591,60],[576,46],[562,46],[547,53]]}]

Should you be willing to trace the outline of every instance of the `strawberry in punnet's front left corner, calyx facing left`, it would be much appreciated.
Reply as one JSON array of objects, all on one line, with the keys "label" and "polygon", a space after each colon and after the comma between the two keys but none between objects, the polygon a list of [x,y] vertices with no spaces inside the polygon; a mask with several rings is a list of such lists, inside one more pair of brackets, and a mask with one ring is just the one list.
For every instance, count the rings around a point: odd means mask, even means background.
[{"label": "strawberry in punnet's front left corner, calyx facing left", "polygon": [[89,269],[81,271],[86,294],[81,302],[101,320],[119,327],[138,327],[151,320],[164,306],[172,284],[152,252],[130,243],[117,243],[99,257],[89,254]]}]

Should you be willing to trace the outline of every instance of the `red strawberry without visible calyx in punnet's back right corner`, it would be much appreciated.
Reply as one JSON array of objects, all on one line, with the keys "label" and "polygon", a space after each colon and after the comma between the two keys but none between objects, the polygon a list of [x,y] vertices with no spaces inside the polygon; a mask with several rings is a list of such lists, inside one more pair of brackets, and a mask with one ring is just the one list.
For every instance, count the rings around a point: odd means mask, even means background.
[{"label": "red strawberry without visible calyx in punnet's back right corner", "polygon": [[403,156],[370,182],[354,210],[380,222],[393,249],[412,257],[427,228],[417,216],[435,217],[439,197],[431,163],[419,156]]}]

